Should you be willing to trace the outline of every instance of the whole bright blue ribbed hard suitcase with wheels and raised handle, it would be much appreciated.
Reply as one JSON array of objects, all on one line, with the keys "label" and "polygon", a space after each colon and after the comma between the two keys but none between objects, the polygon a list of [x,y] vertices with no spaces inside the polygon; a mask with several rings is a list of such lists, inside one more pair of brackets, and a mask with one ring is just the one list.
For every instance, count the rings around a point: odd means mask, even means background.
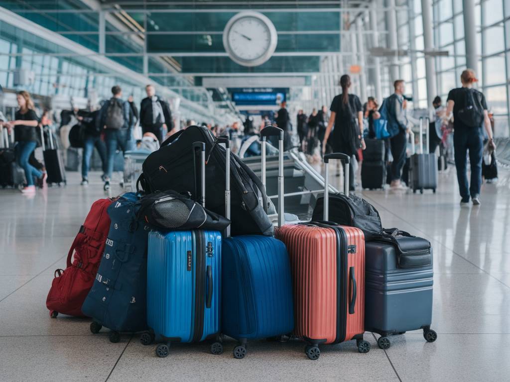
[{"label": "whole bright blue ribbed hard suitcase with wheels and raised handle", "polygon": [[[195,142],[193,147],[201,149],[200,199],[205,207],[206,145]],[[141,343],[164,341],[157,346],[156,354],[166,357],[171,342],[216,339],[211,352],[221,354],[220,277],[221,232],[151,231],[147,257],[147,325],[154,334],[143,333]]]}]

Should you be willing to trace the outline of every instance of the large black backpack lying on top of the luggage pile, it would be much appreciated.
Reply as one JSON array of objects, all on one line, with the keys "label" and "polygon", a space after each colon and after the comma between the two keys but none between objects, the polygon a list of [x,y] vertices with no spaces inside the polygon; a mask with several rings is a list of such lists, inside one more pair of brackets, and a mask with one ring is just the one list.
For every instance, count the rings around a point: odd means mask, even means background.
[{"label": "large black backpack lying on top of the luggage pile", "polygon": [[[137,188],[143,188],[145,193],[169,189],[179,193],[189,191],[193,193],[194,200],[199,200],[196,185],[200,184],[200,172],[195,169],[194,162],[200,163],[200,154],[194,152],[194,142],[206,144],[207,208],[223,215],[226,151],[223,146],[215,144],[214,135],[206,127],[190,126],[163,142],[161,148],[143,162]],[[232,236],[272,236],[274,228],[267,215],[269,204],[261,180],[235,154],[231,155],[230,168]]]}]

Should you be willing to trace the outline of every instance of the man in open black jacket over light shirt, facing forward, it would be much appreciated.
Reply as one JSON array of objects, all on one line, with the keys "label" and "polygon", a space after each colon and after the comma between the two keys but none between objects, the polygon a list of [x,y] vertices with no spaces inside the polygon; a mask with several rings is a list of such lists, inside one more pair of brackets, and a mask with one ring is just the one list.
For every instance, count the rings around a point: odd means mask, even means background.
[{"label": "man in open black jacket over light shirt, facing forward", "polygon": [[156,95],[156,89],[152,85],[145,87],[147,97],[140,104],[140,124],[142,133],[151,132],[163,142],[163,128],[170,131],[173,128],[172,113],[168,103]]}]

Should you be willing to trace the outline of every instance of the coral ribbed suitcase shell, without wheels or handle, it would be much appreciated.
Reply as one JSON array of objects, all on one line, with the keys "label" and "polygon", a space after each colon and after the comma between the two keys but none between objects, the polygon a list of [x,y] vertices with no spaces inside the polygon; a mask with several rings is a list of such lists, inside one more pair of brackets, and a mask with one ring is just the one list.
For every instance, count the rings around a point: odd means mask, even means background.
[{"label": "coral ribbed suitcase shell, without wheels or handle", "polygon": [[[313,223],[312,223],[313,224]],[[338,343],[365,332],[365,237],[354,227],[337,226],[347,237],[347,246],[355,245],[355,253],[347,254],[347,266],[337,269],[337,233],[333,228],[314,225],[285,225],[278,228],[276,237],[289,251],[294,303],[295,334],[312,343]],[[346,248],[344,249],[344,251]],[[337,314],[337,288],[341,278],[348,278],[354,267],[357,284],[354,314],[348,313],[350,288],[341,298],[346,315]],[[348,283],[347,283],[348,284]],[[337,326],[345,321],[345,336],[337,333]]]}]

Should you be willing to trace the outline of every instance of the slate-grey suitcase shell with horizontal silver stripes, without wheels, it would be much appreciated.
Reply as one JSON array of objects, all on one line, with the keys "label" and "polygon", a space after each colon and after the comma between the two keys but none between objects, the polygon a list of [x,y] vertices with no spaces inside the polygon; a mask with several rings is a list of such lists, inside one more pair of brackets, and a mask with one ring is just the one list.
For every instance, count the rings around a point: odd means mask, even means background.
[{"label": "slate-grey suitcase shell with horizontal silver stripes, without wheels", "polygon": [[365,329],[381,335],[429,326],[432,321],[432,263],[399,268],[388,243],[366,243]]}]

